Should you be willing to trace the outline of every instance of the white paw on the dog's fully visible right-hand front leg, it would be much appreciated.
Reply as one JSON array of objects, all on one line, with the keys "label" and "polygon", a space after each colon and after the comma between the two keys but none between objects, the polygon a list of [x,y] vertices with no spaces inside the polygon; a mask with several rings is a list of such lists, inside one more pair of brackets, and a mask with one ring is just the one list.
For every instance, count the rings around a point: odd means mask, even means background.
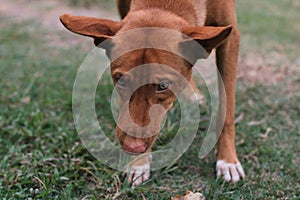
[{"label": "white paw on the dog's fully visible right-hand front leg", "polygon": [[232,181],[236,183],[241,178],[245,178],[245,173],[241,163],[232,164],[226,163],[223,160],[218,160],[217,162],[217,176],[223,176],[224,180],[229,182]]}]

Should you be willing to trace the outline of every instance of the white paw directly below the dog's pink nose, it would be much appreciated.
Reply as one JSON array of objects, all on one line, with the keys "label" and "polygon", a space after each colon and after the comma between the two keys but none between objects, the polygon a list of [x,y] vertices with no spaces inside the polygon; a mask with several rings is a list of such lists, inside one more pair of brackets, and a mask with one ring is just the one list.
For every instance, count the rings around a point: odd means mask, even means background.
[{"label": "white paw directly below the dog's pink nose", "polygon": [[128,183],[132,183],[134,188],[150,178],[150,163],[128,167],[124,174],[127,175]]}]

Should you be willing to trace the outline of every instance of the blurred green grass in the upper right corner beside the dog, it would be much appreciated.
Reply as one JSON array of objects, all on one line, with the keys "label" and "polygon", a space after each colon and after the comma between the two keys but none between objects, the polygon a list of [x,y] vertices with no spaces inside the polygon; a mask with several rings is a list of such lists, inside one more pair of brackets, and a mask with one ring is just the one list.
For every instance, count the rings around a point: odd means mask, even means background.
[{"label": "blurred green grass in the upper right corner beside the dog", "polygon": [[299,55],[299,3],[287,1],[237,1],[244,51],[284,51]]}]

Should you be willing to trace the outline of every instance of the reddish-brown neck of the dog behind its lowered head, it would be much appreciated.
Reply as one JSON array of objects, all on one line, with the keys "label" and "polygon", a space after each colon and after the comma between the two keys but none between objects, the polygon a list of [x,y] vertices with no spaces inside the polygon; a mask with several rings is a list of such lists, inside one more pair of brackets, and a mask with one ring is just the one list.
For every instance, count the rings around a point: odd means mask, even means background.
[{"label": "reddish-brown neck of the dog behind its lowered head", "polygon": [[[206,0],[132,0],[131,8],[123,20],[123,30],[140,27],[162,27],[180,31],[186,26],[201,26]],[[203,4],[194,6],[195,3]]]}]

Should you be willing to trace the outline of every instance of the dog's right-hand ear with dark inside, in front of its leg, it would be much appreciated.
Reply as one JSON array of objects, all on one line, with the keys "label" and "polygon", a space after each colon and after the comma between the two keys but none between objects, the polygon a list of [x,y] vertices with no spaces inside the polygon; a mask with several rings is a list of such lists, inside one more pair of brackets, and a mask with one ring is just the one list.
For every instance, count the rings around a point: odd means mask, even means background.
[{"label": "dog's right-hand ear with dark inside, in front of its leg", "polygon": [[[186,27],[181,31],[185,35],[185,39],[180,42],[179,48],[184,56],[188,56],[187,58],[193,61],[200,58],[207,58],[214,48],[226,40],[231,31],[231,25],[226,27]],[[201,51],[197,43],[200,44],[206,52]]]}]

